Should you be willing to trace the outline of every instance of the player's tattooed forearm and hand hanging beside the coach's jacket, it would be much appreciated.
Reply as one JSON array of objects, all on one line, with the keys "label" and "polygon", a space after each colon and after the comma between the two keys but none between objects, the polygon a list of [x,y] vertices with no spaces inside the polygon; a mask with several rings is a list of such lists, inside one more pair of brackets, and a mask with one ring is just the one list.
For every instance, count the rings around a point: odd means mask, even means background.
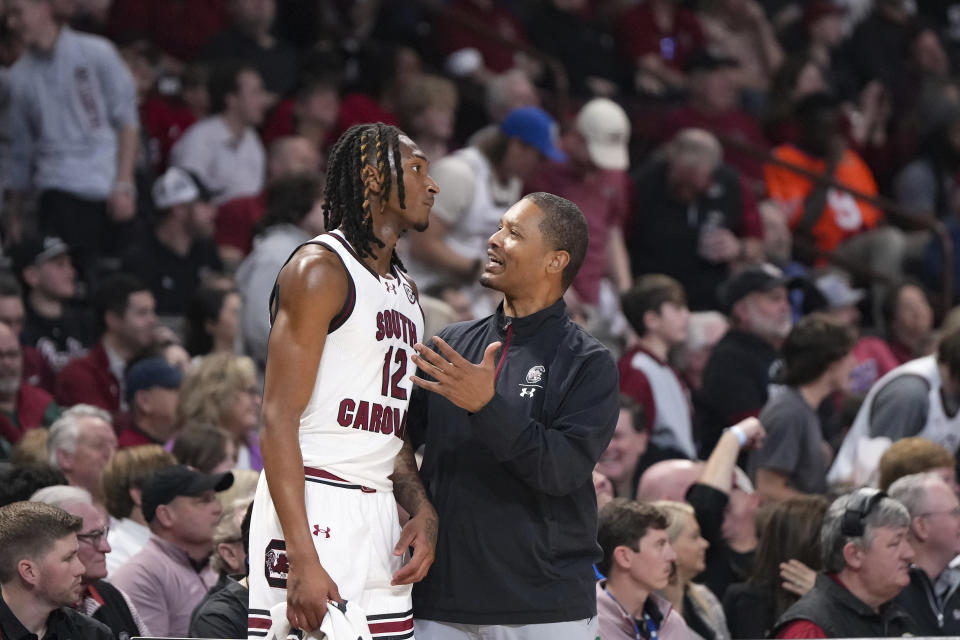
[{"label": "player's tattooed forearm and hand hanging beside the coach's jacket", "polygon": [[440,523],[437,512],[427,498],[427,491],[420,482],[417,461],[409,442],[404,442],[397,454],[390,478],[393,480],[393,494],[397,503],[411,515],[403,525],[393,553],[401,556],[407,549],[413,549],[410,561],[393,575],[392,583],[412,584],[423,580],[433,564]]}]

